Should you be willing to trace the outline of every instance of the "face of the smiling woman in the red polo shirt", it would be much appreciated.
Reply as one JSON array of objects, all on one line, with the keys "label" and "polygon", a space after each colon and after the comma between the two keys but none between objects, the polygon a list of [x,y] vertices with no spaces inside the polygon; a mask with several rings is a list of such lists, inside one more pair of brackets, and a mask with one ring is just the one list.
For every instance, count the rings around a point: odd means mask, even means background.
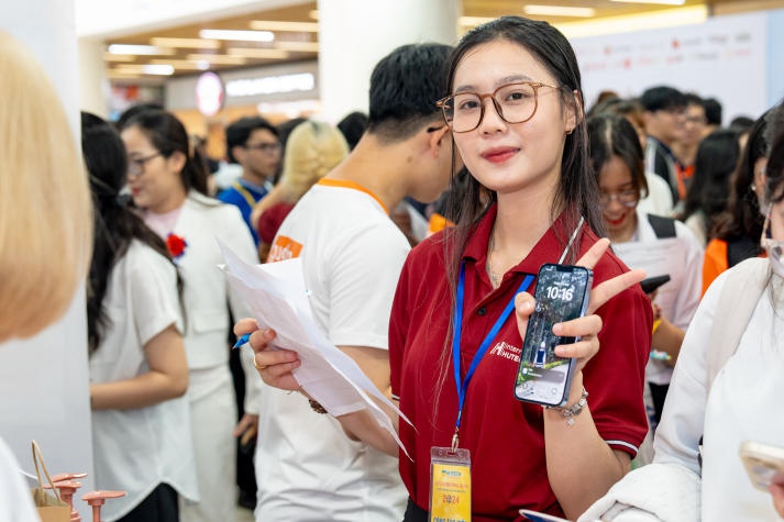
[{"label": "face of the smiling woman in the red polo shirt", "polygon": [[[468,51],[455,69],[452,92],[489,95],[500,86],[533,81],[557,86],[546,68],[519,44],[498,40]],[[565,134],[575,126],[574,111],[563,105],[561,91],[538,90],[533,116],[507,123],[489,98],[483,99],[484,118],[468,132],[454,133],[454,142],[472,175],[485,187],[506,193],[520,190],[552,197],[561,176]],[[537,190],[540,189],[540,190]]]}]

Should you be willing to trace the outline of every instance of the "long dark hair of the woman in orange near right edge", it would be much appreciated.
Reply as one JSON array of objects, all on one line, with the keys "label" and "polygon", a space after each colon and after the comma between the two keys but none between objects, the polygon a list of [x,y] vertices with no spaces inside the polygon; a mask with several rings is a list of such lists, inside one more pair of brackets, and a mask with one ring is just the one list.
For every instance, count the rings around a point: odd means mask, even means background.
[{"label": "long dark hair of the woman in orange near right edge", "polygon": [[[768,111],[770,112],[770,111]],[[727,209],[716,218],[714,236],[719,240],[747,236],[754,241],[762,234],[764,216],[760,212],[760,201],[752,191],[754,185],[754,164],[768,156],[765,130],[768,121],[765,112],[749,131],[743,152],[738,162],[738,168],[730,177],[729,199]]]}]

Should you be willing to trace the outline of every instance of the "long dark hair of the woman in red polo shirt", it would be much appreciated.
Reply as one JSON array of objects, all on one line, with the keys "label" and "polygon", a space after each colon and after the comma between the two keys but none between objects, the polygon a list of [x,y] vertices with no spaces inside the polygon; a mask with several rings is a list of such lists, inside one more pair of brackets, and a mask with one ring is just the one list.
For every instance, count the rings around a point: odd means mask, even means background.
[{"label": "long dark hair of the woman in red polo shirt", "polygon": [[[524,47],[555,78],[560,86],[562,102],[572,107],[576,113],[577,125],[566,136],[564,144],[561,179],[551,219],[561,209],[564,212],[562,226],[554,232],[565,246],[581,216],[597,234],[604,235],[604,223],[598,204],[596,179],[588,166],[588,137],[583,118],[583,91],[581,87],[577,58],[568,41],[561,32],[546,22],[533,21],[520,16],[503,16],[479,25],[463,36],[448,62],[448,88],[452,89],[454,76],[463,57],[471,49],[494,41],[508,41]],[[455,216],[456,226],[448,232],[448,276],[450,284],[456,285],[462,252],[468,236],[487,209],[496,201],[496,193],[483,187],[473,176],[464,187],[455,187],[457,180],[452,176],[453,193],[460,199],[450,202],[450,215]],[[579,244],[570,249],[567,262],[576,260]]]}]

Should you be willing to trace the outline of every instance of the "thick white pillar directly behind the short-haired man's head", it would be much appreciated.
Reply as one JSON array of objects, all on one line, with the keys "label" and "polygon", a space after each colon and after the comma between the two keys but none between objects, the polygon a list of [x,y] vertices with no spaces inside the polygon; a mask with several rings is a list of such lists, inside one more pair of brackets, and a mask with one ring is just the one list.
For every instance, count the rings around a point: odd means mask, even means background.
[{"label": "thick white pillar directly behind the short-haired man's head", "polygon": [[319,0],[318,7],[321,118],[333,123],[367,112],[371,73],[390,51],[457,38],[459,0]]}]

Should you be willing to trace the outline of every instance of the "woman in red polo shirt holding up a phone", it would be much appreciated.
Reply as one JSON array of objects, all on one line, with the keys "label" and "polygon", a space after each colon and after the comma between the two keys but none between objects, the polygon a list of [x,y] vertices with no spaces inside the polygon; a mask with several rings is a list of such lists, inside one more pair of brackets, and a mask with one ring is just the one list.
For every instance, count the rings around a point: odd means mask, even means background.
[{"label": "woman in red polo shirt holding up a phone", "polygon": [[[398,429],[410,455],[400,457],[410,495],[405,520],[522,520],[520,509],[576,518],[629,470],[648,430],[650,301],[638,288],[625,290],[642,275],[597,240],[579,71],[565,37],[544,22],[506,16],[466,34],[450,65],[452,95],[439,104],[472,178],[450,214],[460,216],[456,225],[409,255],[389,329],[391,395],[415,426]],[[543,409],[514,397],[533,309],[533,287],[518,290],[526,275],[564,253],[565,263],[583,257],[593,268],[594,290],[589,315],[553,329],[582,341],[555,351],[577,358],[566,406]],[[517,320],[498,321],[510,302]],[[270,338],[251,340],[262,377],[297,389],[290,370],[298,363],[266,351]],[[355,437],[397,452],[364,410],[339,419]],[[470,453],[470,471],[459,463],[431,466],[433,448],[455,446]],[[431,467],[448,477],[438,496]],[[470,508],[450,509],[462,506]]]}]

